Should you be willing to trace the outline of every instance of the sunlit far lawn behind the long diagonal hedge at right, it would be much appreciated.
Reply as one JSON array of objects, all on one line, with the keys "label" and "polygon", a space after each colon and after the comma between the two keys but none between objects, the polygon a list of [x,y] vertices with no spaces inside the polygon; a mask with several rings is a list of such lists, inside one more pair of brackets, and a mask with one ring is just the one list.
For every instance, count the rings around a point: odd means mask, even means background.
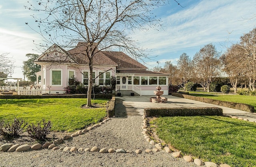
[{"label": "sunlit far lawn behind the long diagonal hedge at right", "polygon": [[237,102],[244,103],[254,106],[254,110],[256,110],[256,96],[245,96],[245,95],[222,95],[222,94],[192,94],[191,96],[199,96],[204,98],[210,98],[214,100],[221,100],[226,102]]}]

